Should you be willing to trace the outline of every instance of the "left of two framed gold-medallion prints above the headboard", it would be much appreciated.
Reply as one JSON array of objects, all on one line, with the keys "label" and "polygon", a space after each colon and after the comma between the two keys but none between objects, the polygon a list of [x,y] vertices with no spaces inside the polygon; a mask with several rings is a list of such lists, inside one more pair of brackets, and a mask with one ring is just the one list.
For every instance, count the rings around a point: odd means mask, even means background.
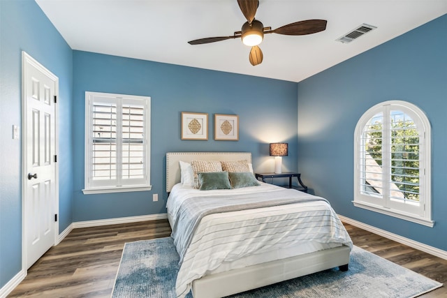
[{"label": "left of two framed gold-medallion prints above the headboard", "polygon": [[182,112],[182,140],[208,140],[208,114]]}]

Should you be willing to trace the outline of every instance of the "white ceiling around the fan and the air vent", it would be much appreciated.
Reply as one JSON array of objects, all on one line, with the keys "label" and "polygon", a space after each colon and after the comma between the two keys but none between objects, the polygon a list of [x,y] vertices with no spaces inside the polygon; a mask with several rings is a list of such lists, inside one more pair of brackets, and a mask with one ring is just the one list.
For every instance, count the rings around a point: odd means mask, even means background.
[{"label": "white ceiling around the fan and the air vent", "polygon": [[[246,21],[236,0],[36,0],[73,50],[300,82],[447,13],[447,0],[259,0],[256,20],[276,29],[328,20],[307,36],[268,34],[263,63],[251,66],[240,38],[205,45],[187,41],[232,36]],[[377,27],[352,43],[337,38],[366,23]],[[446,28],[440,29],[446,38]]]}]

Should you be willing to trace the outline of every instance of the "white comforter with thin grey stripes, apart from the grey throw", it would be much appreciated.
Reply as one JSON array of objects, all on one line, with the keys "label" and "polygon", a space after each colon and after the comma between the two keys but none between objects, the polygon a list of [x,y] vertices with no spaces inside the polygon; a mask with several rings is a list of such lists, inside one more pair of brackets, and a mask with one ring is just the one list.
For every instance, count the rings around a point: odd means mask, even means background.
[{"label": "white comforter with thin grey stripes, apart from the grey throw", "polygon": [[[212,200],[213,197],[221,199],[225,196],[237,203],[242,196],[247,197],[247,193],[254,198],[265,197],[266,194],[275,198],[278,193],[305,199],[318,198],[270,184],[217,191],[198,191],[177,184],[166,205],[173,225],[173,237],[176,234],[175,226],[182,225],[182,218],[177,218],[177,215],[182,214],[181,208],[186,200],[203,196]],[[195,279],[224,262],[296,246],[305,241],[339,243],[352,247],[352,241],[337,214],[324,200],[207,215],[195,230],[191,244],[186,249],[178,244],[177,251],[182,254],[182,264],[177,276],[177,297],[184,297]]]}]

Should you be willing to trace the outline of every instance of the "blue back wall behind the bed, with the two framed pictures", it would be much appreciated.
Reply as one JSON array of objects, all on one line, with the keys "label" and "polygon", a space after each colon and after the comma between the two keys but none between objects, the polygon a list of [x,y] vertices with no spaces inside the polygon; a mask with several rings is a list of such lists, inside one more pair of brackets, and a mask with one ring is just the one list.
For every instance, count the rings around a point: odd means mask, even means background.
[{"label": "blue back wall behind the bed, with the two framed pictures", "polygon": [[[73,221],[166,213],[166,152],[250,151],[271,172],[269,142],[288,142],[284,170],[296,171],[298,84],[152,61],[73,52]],[[84,195],[85,91],[151,96],[152,191]],[[207,141],[181,140],[181,112],[205,112]],[[237,114],[239,141],[214,141],[214,114]],[[159,202],[152,202],[152,194]]]}]

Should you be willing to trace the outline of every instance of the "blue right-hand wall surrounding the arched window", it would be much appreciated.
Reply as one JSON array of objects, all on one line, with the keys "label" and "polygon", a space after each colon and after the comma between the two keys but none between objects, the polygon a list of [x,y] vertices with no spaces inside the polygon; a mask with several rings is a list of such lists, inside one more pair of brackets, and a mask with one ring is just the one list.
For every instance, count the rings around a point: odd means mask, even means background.
[{"label": "blue right-hand wall surrounding the arched window", "polygon": [[[328,198],[338,214],[444,251],[446,29],[444,15],[298,84],[298,160],[305,184]],[[386,100],[417,105],[432,125],[434,228],[360,209],[351,202],[354,129],[369,107]]]}]

